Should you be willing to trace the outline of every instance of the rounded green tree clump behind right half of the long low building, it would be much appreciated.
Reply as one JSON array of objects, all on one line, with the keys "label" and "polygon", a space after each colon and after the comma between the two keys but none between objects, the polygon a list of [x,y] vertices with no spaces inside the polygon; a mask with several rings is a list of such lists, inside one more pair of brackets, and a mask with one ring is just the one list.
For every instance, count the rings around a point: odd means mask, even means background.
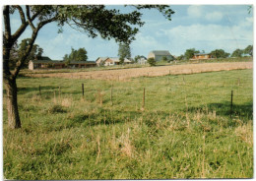
[{"label": "rounded green tree clump behind right half of the long low building", "polygon": [[87,61],[88,56],[87,56],[87,50],[86,48],[79,48],[78,50],[75,50],[74,48],[71,48],[71,53],[65,54],[63,57],[63,60],[65,62],[70,62],[70,61]]}]

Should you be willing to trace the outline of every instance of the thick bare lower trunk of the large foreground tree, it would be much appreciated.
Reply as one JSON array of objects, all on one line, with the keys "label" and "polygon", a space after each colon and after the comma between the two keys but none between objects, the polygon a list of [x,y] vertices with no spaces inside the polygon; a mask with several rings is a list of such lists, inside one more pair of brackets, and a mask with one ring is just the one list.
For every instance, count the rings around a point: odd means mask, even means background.
[{"label": "thick bare lower trunk of the large foreground tree", "polygon": [[8,125],[11,129],[21,128],[18,110],[16,79],[4,80],[7,92]]}]

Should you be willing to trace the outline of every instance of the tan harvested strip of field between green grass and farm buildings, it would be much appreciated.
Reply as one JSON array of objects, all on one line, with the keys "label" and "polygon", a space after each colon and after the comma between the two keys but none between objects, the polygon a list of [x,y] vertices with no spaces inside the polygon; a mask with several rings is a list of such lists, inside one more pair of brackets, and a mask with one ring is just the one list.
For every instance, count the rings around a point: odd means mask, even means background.
[{"label": "tan harvested strip of field between green grass and farm buildings", "polygon": [[129,80],[141,76],[156,77],[165,75],[195,74],[215,71],[230,71],[238,69],[252,69],[252,62],[233,62],[233,63],[204,63],[186,64],[173,66],[159,66],[134,69],[105,70],[94,72],[77,73],[53,73],[53,74],[27,74],[30,77],[52,77],[66,79],[98,79],[98,80]]}]

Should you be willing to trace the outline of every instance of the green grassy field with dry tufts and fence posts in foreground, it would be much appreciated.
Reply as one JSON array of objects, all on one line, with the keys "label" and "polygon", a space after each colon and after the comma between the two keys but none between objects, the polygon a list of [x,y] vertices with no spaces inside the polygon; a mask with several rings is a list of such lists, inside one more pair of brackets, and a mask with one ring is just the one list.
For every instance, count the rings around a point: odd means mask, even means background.
[{"label": "green grassy field with dry tufts and fence posts in foreground", "polygon": [[4,177],[252,178],[252,77],[252,70],[129,82],[21,77],[20,130],[8,129],[4,91]]}]

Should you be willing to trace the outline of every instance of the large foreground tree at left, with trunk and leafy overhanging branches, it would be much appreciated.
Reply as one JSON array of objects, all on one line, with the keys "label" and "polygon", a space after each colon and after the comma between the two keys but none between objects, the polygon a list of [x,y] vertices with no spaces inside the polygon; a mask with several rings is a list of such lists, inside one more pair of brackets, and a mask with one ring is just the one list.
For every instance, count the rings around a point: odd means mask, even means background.
[{"label": "large foreground tree at left, with trunk and leafy overhanging branches", "polygon": [[[135,39],[139,28],[144,25],[141,20],[142,9],[157,9],[171,20],[174,13],[167,5],[133,5],[134,10],[129,13],[120,13],[117,9],[107,9],[104,5],[19,5],[3,7],[3,80],[7,90],[8,124],[10,128],[20,128],[20,116],[17,103],[16,78],[21,68],[26,63],[39,30],[45,25],[55,22],[58,31],[63,31],[63,26],[87,33],[90,37],[100,35],[104,39],[113,38],[117,42],[130,43]],[[18,12],[21,26],[18,30],[11,29],[10,15]],[[15,64],[14,71],[10,71],[10,52],[15,42],[31,28],[31,40],[27,48]]]}]

